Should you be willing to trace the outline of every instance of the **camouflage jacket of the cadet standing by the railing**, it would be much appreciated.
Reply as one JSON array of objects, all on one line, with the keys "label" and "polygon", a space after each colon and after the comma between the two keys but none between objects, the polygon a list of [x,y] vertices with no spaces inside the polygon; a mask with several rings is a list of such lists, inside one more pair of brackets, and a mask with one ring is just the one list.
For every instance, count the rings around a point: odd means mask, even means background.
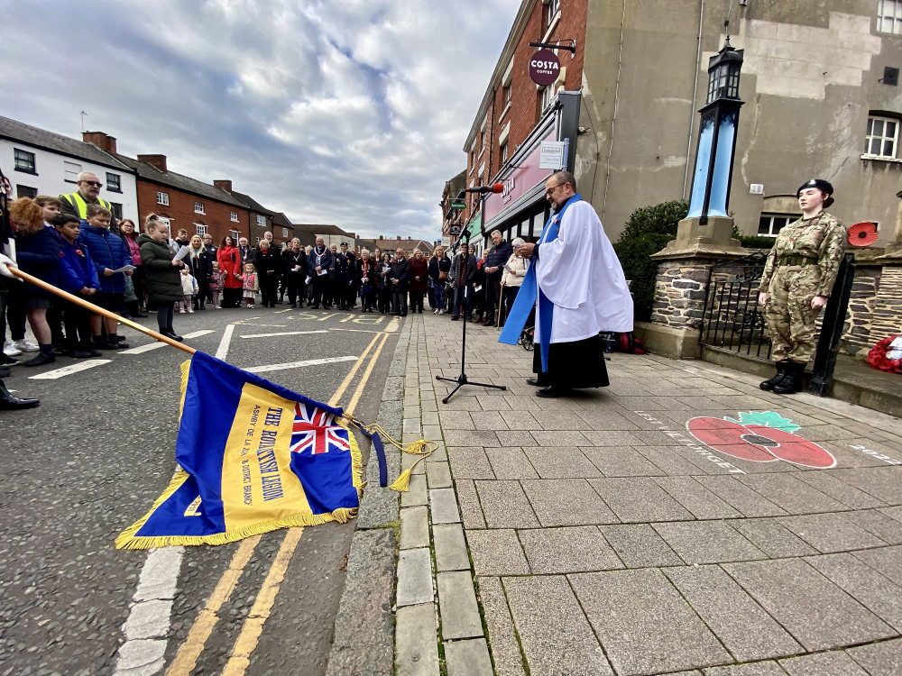
[{"label": "camouflage jacket of the cadet standing by the railing", "polygon": [[761,275],[760,291],[767,291],[770,279],[774,276],[778,262],[789,256],[805,256],[817,259],[817,267],[821,269],[821,280],[817,287],[817,296],[830,296],[836,273],[845,253],[846,229],[835,216],[822,211],[814,218],[799,220],[788,224],[777,235],[777,242],[770,250],[768,260]]}]

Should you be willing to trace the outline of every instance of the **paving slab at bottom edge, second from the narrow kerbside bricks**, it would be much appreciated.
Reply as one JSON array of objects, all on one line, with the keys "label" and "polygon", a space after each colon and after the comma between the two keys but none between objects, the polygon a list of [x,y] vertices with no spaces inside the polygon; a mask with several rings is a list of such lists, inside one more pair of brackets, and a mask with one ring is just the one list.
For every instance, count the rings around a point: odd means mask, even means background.
[{"label": "paving slab at bottom edge, second from the narrow kerbside bricks", "polygon": [[505,578],[511,616],[533,674],[613,674],[566,578]]}]

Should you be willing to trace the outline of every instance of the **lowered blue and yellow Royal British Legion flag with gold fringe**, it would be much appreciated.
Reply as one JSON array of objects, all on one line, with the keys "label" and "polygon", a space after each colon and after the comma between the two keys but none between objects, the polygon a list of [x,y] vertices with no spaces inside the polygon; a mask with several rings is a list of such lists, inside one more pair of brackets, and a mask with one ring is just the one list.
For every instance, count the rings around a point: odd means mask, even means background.
[{"label": "lowered blue and yellow Royal British Legion flag with gold fringe", "polygon": [[342,414],[196,352],[182,365],[179,470],[116,547],[225,544],[344,523],[359,506],[363,462]]}]

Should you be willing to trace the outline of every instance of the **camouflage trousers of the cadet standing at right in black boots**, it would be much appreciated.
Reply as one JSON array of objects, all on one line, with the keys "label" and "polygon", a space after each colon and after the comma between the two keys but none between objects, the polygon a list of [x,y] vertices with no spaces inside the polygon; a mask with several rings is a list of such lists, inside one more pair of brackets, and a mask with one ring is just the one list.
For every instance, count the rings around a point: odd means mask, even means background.
[{"label": "camouflage trousers of the cadet standing at right in black boots", "polygon": [[816,265],[781,266],[774,272],[764,306],[764,321],[770,333],[770,358],[807,363],[815,357],[817,315],[811,300],[817,295],[821,269]]}]

